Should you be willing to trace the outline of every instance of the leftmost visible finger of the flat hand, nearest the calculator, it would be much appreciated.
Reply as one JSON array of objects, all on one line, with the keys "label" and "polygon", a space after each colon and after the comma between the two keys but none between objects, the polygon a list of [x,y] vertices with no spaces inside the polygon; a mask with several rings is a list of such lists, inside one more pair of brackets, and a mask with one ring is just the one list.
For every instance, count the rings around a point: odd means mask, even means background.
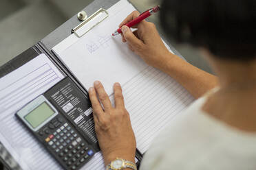
[{"label": "leftmost visible finger of the flat hand, nearest the calculator", "polygon": [[96,91],[93,87],[89,88],[89,99],[91,100],[92,103],[92,108],[94,110],[94,116],[100,117],[100,114],[103,113],[103,108],[100,105],[100,102],[98,101]]}]

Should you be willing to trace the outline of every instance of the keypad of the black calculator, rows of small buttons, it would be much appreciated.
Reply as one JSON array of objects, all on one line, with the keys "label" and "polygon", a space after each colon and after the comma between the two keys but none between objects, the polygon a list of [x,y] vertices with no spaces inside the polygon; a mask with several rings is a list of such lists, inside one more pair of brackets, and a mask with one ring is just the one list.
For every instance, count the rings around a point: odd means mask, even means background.
[{"label": "keypad of the black calculator, rows of small buttons", "polygon": [[[58,123],[63,122],[61,118],[57,120]],[[55,122],[51,122],[52,125],[57,125]],[[45,142],[70,169],[77,169],[94,154],[94,151],[89,149],[87,143],[68,123],[59,125],[57,130],[52,134],[49,133],[49,136],[45,138]]]}]

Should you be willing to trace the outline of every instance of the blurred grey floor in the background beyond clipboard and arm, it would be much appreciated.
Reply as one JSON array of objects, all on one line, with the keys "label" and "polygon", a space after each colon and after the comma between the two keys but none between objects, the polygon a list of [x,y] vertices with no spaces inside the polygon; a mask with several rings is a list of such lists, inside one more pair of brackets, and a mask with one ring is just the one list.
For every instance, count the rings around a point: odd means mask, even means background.
[{"label": "blurred grey floor in the background beyond clipboard and arm", "polygon": [[[28,49],[93,0],[0,0],[0,65]],[[140,11],[152,0],[131,0]],[[149,19],[158,26],[158,15]],[[173,46],[191,64],[211,72],[200,53],[187,45]]]}]

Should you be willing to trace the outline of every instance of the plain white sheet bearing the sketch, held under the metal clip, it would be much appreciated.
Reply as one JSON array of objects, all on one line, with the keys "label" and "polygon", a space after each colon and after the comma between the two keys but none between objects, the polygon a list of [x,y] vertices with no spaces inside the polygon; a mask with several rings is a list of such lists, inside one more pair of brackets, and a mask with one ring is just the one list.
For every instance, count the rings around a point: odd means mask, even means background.
[{"label": "plain white sheet bearing the sketch, held under the metal clip", "polygon": [[121,41],[121,36],[111,36],[118,24],[133,10],[135,8],[130,3],[120,1],[108,10],[107,19],[65,51],[58,53],[85,88],[92,86],[95,80],[100,80],[104,82],[107,93],[111,94],[115,82],[124,85],[147,67]]}]

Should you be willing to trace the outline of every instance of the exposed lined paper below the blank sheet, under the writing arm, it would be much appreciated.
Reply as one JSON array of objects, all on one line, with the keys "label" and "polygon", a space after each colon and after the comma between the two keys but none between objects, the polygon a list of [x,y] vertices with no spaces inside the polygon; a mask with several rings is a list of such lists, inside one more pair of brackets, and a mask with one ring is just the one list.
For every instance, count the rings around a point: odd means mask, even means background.
[{"label": "exposed lined paper below the blank sheet, under the writing arm", "polygon": [[142,154],[175,115],[193,101],[178,82],[151,66],[123,86],[123,95]]}]

